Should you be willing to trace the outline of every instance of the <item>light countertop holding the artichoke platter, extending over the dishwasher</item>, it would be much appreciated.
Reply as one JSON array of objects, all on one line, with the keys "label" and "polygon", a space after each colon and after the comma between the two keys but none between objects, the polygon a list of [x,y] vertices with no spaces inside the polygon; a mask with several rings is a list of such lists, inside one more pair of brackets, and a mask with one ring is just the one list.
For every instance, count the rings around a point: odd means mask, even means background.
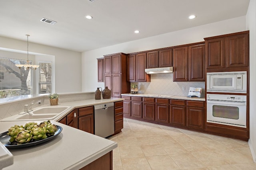
[{"label": "light countertop holding the artichoke platter, extending over the dishwasher", "polygon": [[[70,110],[68,110],[66,113],[63,113],[56,119],[51,120],[53,124],[62,127],[62,132],[54,139],[40,145],[20,149],[9,149],[13,155],[13,157],[11,155],[13,158],[13,164],[4,168],[4,170],[45,170],[47,167],[56,170],[77,170],[100,158],[104,154],[115,149],[117,147],[117,143],[79,129],[75,129],[62,123],[58,123],[58,121],[68,114],[72,109],[77,107],[93,106],[96,104],[104,104],[122,100],[123,99],[120,98],[111,98],[60,103],[58,106],[71,106]],[[39,124],[42,121],[34,122]],[[0,122],[0,133],[8,131],[8,129],[15,124],[25,125],[26,123],[28,123],[28,121]]]}]

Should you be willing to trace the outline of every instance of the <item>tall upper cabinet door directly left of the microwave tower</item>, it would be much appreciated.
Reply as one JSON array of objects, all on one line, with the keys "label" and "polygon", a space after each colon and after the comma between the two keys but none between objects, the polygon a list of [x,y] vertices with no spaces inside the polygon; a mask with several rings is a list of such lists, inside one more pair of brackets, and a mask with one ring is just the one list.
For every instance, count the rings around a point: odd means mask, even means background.
[{"label": "tall upper cabinet door directly left of the microwave tower", "polygon": [[204,44],[193,45],[188,48],[188,81],[205,80],[205,52]]}]

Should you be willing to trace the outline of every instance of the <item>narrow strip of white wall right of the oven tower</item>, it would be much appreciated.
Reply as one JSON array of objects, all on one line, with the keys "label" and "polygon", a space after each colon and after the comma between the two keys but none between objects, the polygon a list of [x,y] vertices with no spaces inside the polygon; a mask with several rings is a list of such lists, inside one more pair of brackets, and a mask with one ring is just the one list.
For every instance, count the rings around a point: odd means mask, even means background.
[{"label": "narrow strip of white wall right of the oven tower", "polygon": [[246,15],[246,28],[250,30],[250,139],[249,145],[256,162],[256,0],[250,0]]}]

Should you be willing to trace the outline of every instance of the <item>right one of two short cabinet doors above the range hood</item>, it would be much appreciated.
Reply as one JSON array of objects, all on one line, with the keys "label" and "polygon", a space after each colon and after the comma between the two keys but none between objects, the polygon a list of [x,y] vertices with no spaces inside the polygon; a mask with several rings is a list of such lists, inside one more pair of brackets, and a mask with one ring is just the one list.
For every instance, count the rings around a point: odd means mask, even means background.
[{"label": "right one of two short cabinet doors above the range hood", "polygon": [[159,51],[159,67],[172,66],[172,49]]}]

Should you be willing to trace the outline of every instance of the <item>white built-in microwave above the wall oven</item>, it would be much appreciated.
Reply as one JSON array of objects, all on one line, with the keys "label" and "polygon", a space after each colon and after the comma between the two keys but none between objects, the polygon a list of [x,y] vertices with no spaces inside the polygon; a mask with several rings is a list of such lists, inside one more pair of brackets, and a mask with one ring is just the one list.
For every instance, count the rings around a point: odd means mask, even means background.
[{"label": "white built-in microwave above the wall oven", "polygon": [[236,72],[207,72],[206,74],[207,92],[247,92],[246,71]]}]

